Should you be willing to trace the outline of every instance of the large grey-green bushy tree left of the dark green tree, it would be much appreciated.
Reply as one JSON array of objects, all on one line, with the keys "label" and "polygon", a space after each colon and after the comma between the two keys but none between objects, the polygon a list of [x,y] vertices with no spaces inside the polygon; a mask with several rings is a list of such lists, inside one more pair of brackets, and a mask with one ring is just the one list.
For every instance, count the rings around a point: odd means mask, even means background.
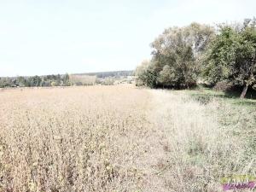
[{"label": "large grey-green bushy tree left of the dark green tree", "polygon": [[211,26],[171,27],[152,43],[157,86],[189,88],[196,84],[201,55],[214,36]]}]

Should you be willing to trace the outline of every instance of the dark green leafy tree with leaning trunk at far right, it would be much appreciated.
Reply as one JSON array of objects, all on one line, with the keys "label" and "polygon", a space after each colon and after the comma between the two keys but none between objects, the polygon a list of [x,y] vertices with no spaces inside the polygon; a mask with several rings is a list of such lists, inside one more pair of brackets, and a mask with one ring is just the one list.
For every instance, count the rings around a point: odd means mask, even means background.
[{"label": "dark green leafy tree with leaning trunk at far right", "polygon": [[245,20],[241,26],[220,26],[212,41],[205,68],[207,79],[216,84],[227,81],[247,88],[256,83],[256,20]]}]

